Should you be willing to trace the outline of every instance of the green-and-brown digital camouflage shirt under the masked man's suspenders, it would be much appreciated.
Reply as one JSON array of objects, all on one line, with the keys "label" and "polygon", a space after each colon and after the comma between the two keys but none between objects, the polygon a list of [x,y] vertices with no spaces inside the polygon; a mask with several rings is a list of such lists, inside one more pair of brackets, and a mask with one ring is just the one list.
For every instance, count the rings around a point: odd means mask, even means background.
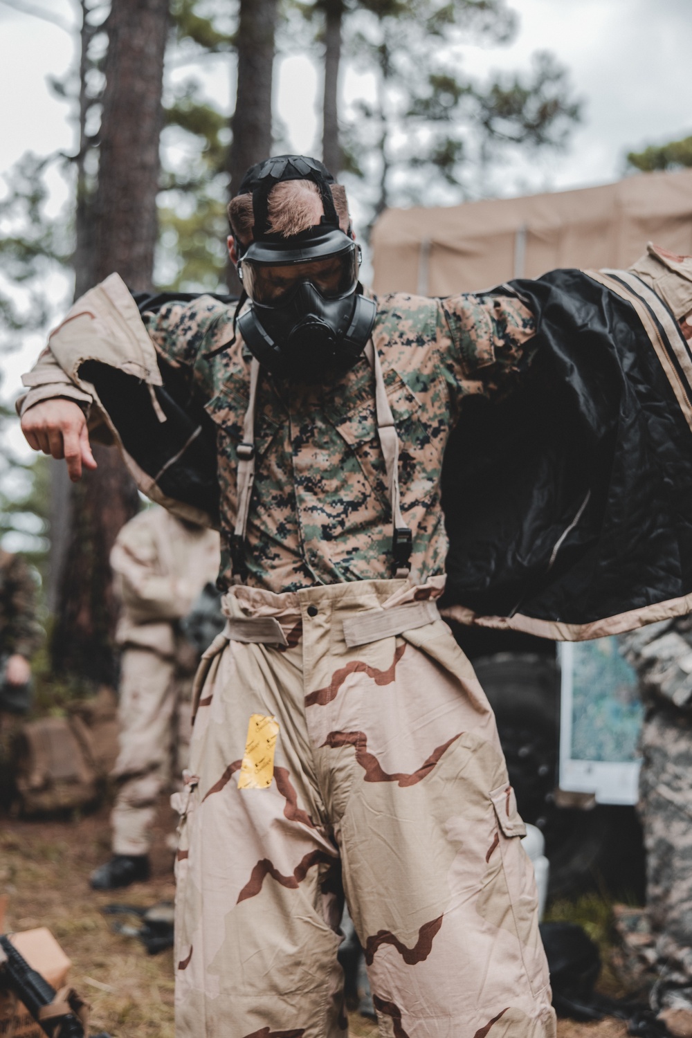
[{"label": "green-and-brown digital camouflage shirt under the masked man's suspenders", "polygon": [[[222,579],[237,510],[251,355],[233,337],[233,310],[211,296],[145,315],[161,354],[187,370],[216,424],[221,488]],[[399,437],[402,512],[413,532],[411,577],[444,572],[440,508],[444,447],[462,400],[511,390],[530,362],[531,311],[510,295],[378,300],[372,340]],[[392,575],[391,510],[375,414],[375,383],[361,357],[328,386],[260,374],[247,582],[268,591]]]}]

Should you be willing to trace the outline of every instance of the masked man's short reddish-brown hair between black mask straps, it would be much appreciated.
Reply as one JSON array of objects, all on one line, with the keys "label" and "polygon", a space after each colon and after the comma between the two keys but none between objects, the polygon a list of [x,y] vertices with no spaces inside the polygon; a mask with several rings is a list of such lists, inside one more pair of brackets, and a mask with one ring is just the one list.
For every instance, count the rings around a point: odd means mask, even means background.
[{"label": "masked man's short reddish-brown hair between black mask straps", "polygon": [[[343,230],[350,224],[349,202],[341,184],[331,184],[334,208]],[[317,185],[312,181],[282,181],[275,184],[269,193],[269,230],[289,238],[313,224],[313,206],[309,195],[319,195]],[[254,216],[252,195],[236,195],[228,202],[228,222],[232,234],[242,242],[252,238]]]}]

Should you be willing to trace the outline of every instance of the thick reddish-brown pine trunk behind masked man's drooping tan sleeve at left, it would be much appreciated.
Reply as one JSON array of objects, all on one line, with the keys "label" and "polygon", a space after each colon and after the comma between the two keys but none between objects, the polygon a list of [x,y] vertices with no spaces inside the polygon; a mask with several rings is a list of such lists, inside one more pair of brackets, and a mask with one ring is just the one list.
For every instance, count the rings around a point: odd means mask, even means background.
[{"label": "thick reddish-brown pine trunk behind masked man's drooping tan sleeve at left", "polygon": [[[167,27],[168,0],[113,0],[99,181],[90,212],[78,209],[77,218],[81,292],[113,271],[130,288],[151,286]],[[78,197],[78,207],[86,202]],[[86,472],[71,495],[70,547],[51,648],[56,673],[112,683],[117,604],[109,555],[118,530],[137,513],[139,498],[114,447],[94,444],[94,457],[99,468]]]}]

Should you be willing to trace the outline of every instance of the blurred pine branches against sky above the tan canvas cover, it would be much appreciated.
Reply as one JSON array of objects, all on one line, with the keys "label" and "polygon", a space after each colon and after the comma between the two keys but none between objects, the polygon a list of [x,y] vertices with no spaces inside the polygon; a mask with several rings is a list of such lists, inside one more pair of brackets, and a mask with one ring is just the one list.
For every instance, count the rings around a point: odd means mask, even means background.
[{"label": "blurred pine branches against sky above the tan canvas cover", "polygon": [[511,39],[516,19],[502,0],[362,7],[347,46],[378,86],[376,101],[351,114],[349,151],[378,185],[370,188],[376,215],[391,204],[430,204],[441,187],[446,200],[454,197],[449,188],[456,197],[482,194],[489,165],[511,149],[564,144],[579,104],[549,54],[535,55],[528,74],[487,83],[461,69],[462,44]]}]

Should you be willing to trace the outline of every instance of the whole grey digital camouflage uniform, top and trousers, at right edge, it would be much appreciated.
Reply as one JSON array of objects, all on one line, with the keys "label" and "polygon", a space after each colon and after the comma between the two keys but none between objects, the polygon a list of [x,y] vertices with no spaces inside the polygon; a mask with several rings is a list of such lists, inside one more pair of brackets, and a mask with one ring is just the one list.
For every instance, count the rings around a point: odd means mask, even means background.
[{"label": "whole grey digital camouflage uniform, top and trousers, at right edge", "polygon": [[692,619],[621,640],[646,705],[639,812],[658,974],[652,1008],[692,1010]]}]

